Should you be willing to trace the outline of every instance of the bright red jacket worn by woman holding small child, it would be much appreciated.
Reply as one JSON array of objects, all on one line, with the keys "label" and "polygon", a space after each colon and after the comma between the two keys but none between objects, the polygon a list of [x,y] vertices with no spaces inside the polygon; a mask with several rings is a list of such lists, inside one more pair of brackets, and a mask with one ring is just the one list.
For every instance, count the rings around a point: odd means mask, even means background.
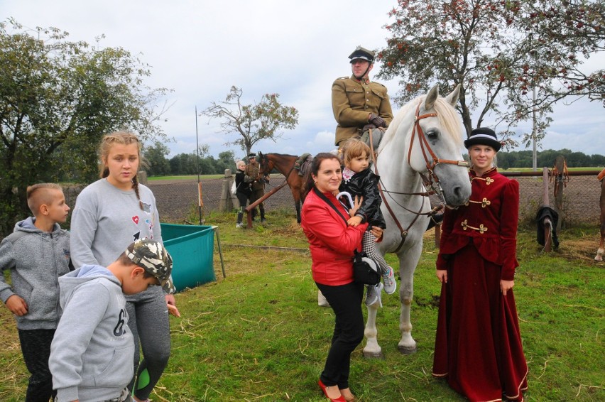
[{"label": "bright red jacket worn by woman holding small child", "polygon": [[[324,195],[347,218],[349,212],[334,195]],[[302,204],[300,226],[309,240],[313,281],[339,286],[353,281],[354,250],[361,251],[367,223],[351,227],[332,207],[311,190]]]}]

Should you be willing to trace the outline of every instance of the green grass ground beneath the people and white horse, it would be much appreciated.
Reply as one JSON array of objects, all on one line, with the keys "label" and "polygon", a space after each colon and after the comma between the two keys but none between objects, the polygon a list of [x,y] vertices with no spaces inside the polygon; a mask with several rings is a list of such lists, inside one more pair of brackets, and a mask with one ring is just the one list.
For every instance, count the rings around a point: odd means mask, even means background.
[{"label": "green grass ground beneath the people and white horse", "polygon": [[[267,226],[246,230],[234,228],[234,214],[206,217],[220,228],[227,278],[215,247],[218,281],[176,295],[182,317],[170,318],[172,356],[153,401],[325,401],[317,378],[334,318],[317,306],[307,243],[290,215],[271,212]],[[535,228],[519,233],[515,295],[530,367],[526,398],[604,401],[605,266],[592,261],[596,227],[567,230],[560,241],[559,251],[543,254]],[[418,352],[397,351],[398,298],[384,296],[377,318],[384,359],[364,359],[361,347],[352,357],[351,388],[359,401],[464,400],[430,375],[436,256],[427,234],[412,307]],[[14,322],[6,308],[0,317],[0,401],[23,401],[28,375]]]}]

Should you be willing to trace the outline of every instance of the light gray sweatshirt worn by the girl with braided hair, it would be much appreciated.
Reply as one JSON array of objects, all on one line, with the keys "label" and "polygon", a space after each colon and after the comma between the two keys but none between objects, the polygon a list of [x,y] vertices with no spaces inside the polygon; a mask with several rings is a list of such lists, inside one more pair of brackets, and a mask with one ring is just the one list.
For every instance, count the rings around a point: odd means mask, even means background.
[{"label": "light gray sweatshirt worn by the girl with braided hair", "polygon": [[134,190],[123,191],[106,179],[88,185],[77,196],[72,212],[71,247],[76,268],[108,266],[136,239],[162,241],[156,198],[139,184],[143,210]]}]

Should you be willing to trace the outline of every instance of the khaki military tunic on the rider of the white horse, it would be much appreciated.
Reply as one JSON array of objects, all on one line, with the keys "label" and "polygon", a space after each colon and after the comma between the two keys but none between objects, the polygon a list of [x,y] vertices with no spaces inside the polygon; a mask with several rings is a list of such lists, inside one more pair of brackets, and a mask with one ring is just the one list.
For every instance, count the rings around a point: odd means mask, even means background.
[{"label": "khaki military tunic on the rider of the white horse", "polygon": [[357,80],[353,75],[337,78],[332,84],[332,112],[338,123],[335,145],[361,136],[371,113],[383,118],[387,126],[393,120],[386,87],[370,80]]}]

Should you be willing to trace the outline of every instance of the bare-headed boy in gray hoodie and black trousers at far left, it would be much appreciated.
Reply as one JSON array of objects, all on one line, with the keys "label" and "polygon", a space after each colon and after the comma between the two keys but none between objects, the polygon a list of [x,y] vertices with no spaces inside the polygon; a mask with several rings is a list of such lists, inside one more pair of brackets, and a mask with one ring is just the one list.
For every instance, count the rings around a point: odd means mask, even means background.
[{"label": "bare-headed boy in gray hoodie and black trousers at far left", "polygon": [[70,207],[60,185],[27,188],[33,217],[17,222],[0,244],[0,270],[10,270],[12,287],[0,272],[0,299],[15,315],[23,361],[29,377],[26,402],[48,402],[53,376],[48,369],[50,342],[57,328],[58,277],[70,271],[70,233],[61,229]]}]

